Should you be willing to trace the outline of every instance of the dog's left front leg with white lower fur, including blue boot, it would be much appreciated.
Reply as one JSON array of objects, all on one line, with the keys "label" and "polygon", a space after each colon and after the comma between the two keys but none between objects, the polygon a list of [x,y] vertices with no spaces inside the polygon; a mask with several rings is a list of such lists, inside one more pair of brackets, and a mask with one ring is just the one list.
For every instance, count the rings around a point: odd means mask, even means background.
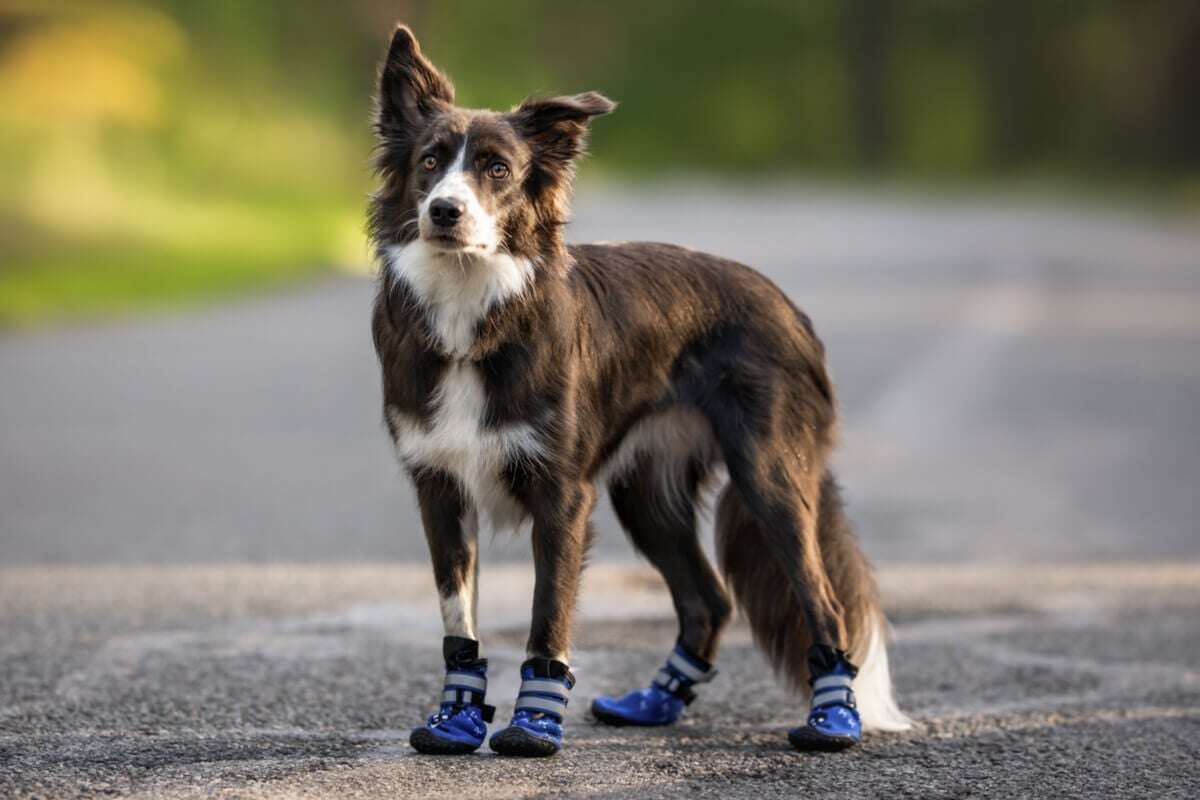
[{"label": "dog's left front leg with white lower fur, including blue boot", "polygon": [[433,560],[433,578],[445,637],[445,685],[442,702],[409,742],[422,753],[469,753],[484,744],[493,709],[487,694],[487,660],[475,639],[478,515],[462,487],[443,473],[413,475],[421,522]]}]

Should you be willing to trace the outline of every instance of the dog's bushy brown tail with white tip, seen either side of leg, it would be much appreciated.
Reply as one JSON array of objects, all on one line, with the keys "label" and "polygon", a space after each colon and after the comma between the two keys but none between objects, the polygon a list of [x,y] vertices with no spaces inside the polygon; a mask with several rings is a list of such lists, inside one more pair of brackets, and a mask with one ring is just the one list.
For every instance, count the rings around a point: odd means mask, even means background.
[{"label": "dog's bushy brown tail with white tip, seen either side of leg", "polygon": [[[841,492],[828,471],[821,482],[817,537],[826,573],[842,608],[848,655],[858,666],[854,694],[863,726],[874,730],[907,730],[912,722],[900,711],[888,669],[888,620],[880,606],[871,565],[858,547],[842,511]],[[775,672],[803,692],[809,688],[808,651],[811,632],[804,625],[787,565],[773,558],[770,540],[726,487],[716,510],[716,541],[726,582],[745,614],[755,640]]]}]

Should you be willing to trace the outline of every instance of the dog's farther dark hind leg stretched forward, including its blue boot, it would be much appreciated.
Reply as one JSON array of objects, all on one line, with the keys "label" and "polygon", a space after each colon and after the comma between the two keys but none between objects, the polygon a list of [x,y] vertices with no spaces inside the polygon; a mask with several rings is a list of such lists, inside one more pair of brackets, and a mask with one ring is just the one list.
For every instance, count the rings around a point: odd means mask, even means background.
[{"label": "dog's farther dark hind leg stretched forward, including its blue boot", "polygon": [[608,487],[617,517],[662,575],[679,618],[676,648],[650,686],[592,703],[593,715],[608,724],[670,724],[695,698],[692,687],[716,673],[712,662],[732,607],[696,530],[696,495],[708,467],[692,461],[679,465],[679,480],[667,480],[674,476],[664,470],[673,467],[642,456]]}]

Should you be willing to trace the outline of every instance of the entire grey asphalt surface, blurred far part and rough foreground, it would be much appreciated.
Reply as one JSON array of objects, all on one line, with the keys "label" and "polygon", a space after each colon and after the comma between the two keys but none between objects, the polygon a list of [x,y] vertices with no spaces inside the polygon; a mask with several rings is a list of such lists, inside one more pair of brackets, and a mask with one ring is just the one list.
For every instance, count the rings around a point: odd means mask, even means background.
[{"label": "entire grey asphalt surface, blurred far part and rough foreground", "polygon": [[[602,509],[568,748],[410,753],[440,634],[347,276],[0,336],[0,796],[1195,796],[1194,221],[714,185],[576,207],[575,240],[738,258],[814,318],[918,729],[791,752],[742,627],[682,726],[589,722],[673,638]],[[485,547],[502,717],[527,547]]]}]

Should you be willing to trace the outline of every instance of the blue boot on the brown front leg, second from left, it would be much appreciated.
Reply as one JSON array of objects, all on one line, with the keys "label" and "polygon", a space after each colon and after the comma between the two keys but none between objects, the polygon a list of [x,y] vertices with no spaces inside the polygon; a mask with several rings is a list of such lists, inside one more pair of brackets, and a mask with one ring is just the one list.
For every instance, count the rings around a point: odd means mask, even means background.
[{"label": "blue boot on the brown front leg, second from left", "polygon": [[563,746],[563,716],[575,675],[562,661],[529,658],[521,664],[521,691],[512,722],[488,742],[500,756],[553,756]]}]

